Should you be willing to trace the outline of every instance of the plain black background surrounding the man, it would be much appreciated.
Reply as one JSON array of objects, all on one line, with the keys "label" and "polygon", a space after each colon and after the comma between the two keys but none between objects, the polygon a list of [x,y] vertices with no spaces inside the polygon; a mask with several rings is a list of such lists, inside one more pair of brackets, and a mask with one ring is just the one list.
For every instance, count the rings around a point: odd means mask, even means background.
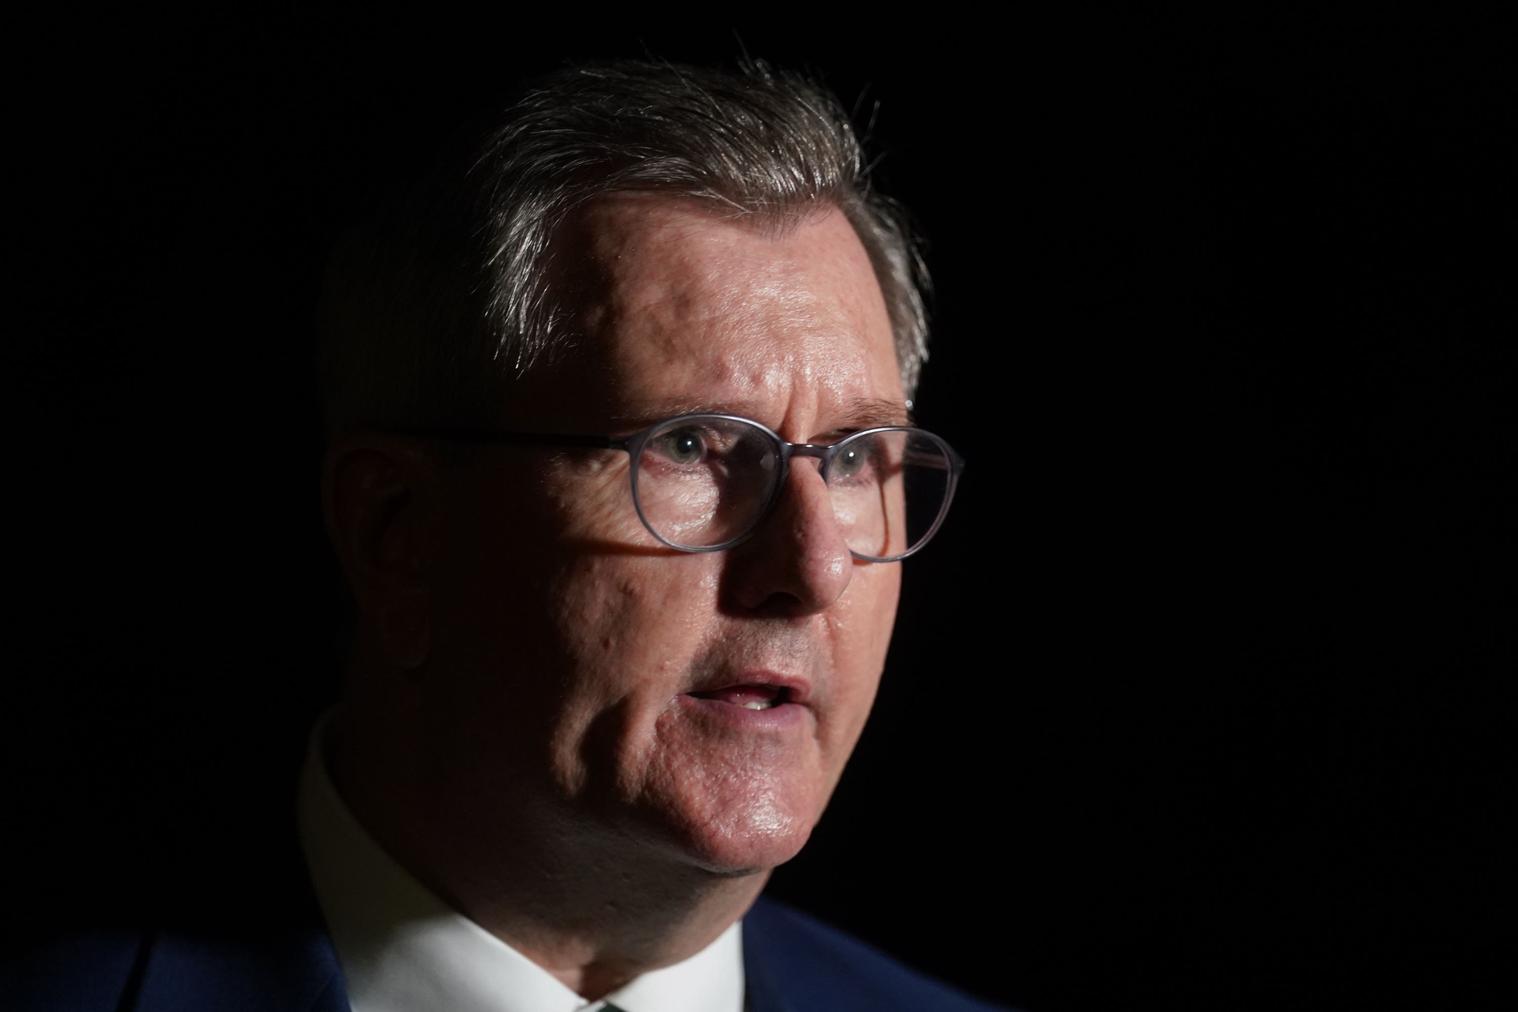
[{"label": "plain black background surrounding the man", "polygon": [[[861,121],[879,102],[877,176],[937,278],[918,416],[970,461],[906,563],[871,725],[773,892],[1034,1010],[1494,1004],[1500,33],[777,12],[739,35]],[[52,24],[23,49],[21,929],[214,891],[287,818],[342,601],[314,302],[380,167],[568,58],[739,44],[225,17]]]}]

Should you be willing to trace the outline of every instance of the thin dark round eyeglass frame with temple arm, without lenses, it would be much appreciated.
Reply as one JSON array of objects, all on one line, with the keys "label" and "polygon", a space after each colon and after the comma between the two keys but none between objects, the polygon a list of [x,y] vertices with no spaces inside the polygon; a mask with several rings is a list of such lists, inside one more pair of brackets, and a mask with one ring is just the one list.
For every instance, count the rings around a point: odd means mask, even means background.
[{"label": "thin dark round eyeglass frame with temple arm, without lenses", "polygon": [[[656,531],[653,523],[648,522],[648,517],[644,514],[642,499],[638,495],[638,472],[639,472],[638,460],[639,457],[642,457],[644,446],[647,446],[648,440],[653,438],[654,432],[659,432],[660,429],[676,422],[695,422],[698,419],[716,419],[723,422],[741,422],[744,425],[750,425],[764,432],[765,437],[770,438],[770,442],[776,448],[776,455],[780,460],[780,467],[777,469],[774,484],[770,489],[770,498],[768,501],[765,501],[764,507],[761,507],[759,513],[754,514],[753,523],[750,523],[748,530],[745,530],[742,534],[729,539],[721,545],[680,545],[677,542],[671,542],[669,539],[663,537],[659,531]],[[780,498],[785,495],[786,478],[789,478],[791,475],[792,457],[815,458],[817,473],[823,478],[823,482],[826,482],[827,472],[832,467],[833,460],[836,460],[836,457],[846,448],[849,448],[852,443],[858,440],[865,438],[867,435],[876,435],[879,432],[912,432],[918,437],[929,438],[934,443],[937,443],[940,449],[943,449],[944,460],[949,461],[949,479],[944,487],[943,505],[938,507],[938,516],[934,517],[934,522],[927,528],[927,533],[923,534],[923,537],[915,545],[908,548],[900,555],[862,555],[861,552],[849,549],[850,555],[864,563],[899,563],[908,555],[914,555],[918,551],[921,551],[921,548],[934,539],[934,534],[938,533],[938,528],[943,526],[944,517],[949,516],[949,505],[953,502],[955,489],[959,486],[959,475],[964,472],[964,458],[959,457],[959,454],[956,454],[955,449],[949,446],[949,443],[946,443],[941,435],[929,432],[927,429],[920,429],[915,425],[877,425],[874,428],[850,432],[836,443],[791,443],[782,438],[779,432],[771,429],[764,422],[754,422],[753,419],[745,419],[741,414],[723,414],[720,411],[692,411],[689,414],[674,414],[669,416],[668,419],[660,419],[644,429],[631,432],[630,435],[580,435],[580,434],[565,434],[565,432],[499,432],[487,429],[434,429],[434,428],[411,428],[399,431],[401,435],[436,438],[455,443],[489,443],[496,446],[562,446],[562,448],[627,451],[628,457],[627,470],[633,493],[633,508],[638,511],[638,519],[642,522],[644,530],[653,534],[660,545],[666,545],[668,548],[682,552],[721,552],[727,551],[729,548],[736,548],[738,545],[742,545],[759,531],[761,525],[764,525],[765,519],[768,519],[770,513],[774,511],[774,507],[780,502]]]}]

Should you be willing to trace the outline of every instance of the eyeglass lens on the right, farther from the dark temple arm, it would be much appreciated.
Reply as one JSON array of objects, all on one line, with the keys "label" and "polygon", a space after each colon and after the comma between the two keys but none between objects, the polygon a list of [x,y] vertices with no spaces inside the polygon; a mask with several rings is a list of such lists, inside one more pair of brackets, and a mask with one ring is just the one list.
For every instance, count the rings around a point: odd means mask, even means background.
[{"label": "eyeglass lens on the right, farther from the dark temple arm", "polygon": [[897,429],[846,440],[827,487],[849,549],[888,560],[917,548],[943,514],[950,475],[947,449],[926,432]]}]

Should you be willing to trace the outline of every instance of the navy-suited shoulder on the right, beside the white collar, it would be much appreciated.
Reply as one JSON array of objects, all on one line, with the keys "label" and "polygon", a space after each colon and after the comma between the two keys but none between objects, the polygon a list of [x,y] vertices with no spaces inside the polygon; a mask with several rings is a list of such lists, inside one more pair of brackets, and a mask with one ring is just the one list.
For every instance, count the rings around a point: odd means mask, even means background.
[{"label": "navy-suited shoulder on the right, beside the white collar", "polygon": [[996,1012],[997,1006],[924,977],[864,942],[761,898],[744,918],[744,963],[756,1001],[785,1012]]}]

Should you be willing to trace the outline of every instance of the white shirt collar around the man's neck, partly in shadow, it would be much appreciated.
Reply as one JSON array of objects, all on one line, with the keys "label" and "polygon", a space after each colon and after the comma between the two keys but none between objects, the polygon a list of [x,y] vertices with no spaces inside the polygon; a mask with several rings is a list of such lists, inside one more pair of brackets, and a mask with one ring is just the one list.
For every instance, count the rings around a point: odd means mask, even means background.
[{"label": "white shirt collar around the man's neck, partly in shadow", "polygon": [[311,731],[299,827],[316,898],[348,979],[354,1012],[742,1012],[742,927],[674,966],[586,1001],[557,977],[458,913],[358,824],[326,774]]}]

